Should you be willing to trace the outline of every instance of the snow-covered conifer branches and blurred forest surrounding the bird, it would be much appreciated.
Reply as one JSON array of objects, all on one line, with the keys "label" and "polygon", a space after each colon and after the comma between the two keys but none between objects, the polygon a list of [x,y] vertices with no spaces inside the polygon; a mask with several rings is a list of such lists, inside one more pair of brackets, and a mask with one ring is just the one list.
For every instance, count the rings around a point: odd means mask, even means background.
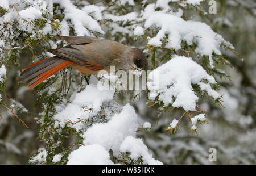
[{"label": "snow-covered conifer branches and blurred forest surrounding the bird", "polygon": [[[208,2],[1,0],[0,164],[255,164],[256,5]],[[55,35],[142,49],[148,90],[71,68],[27,90],[20,70],[66,45]]]}]

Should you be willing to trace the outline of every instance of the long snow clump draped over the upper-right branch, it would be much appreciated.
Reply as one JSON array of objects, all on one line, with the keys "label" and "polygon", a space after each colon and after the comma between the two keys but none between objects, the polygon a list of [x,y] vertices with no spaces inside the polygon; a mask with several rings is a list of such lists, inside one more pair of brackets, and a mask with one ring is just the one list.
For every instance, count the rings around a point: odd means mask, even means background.
[{"label": "long snow clump draped over the upper-right branch", "polygon": [[[189,1],[189,3],[197,4],[199,1]],[[225,43],[232,45],[225,41],[221,35],[214,32],[210,26],[205,23],[195,21],[185,21],[178,16],[167,14],[165,11],[155,11],[155,5],[148,5],[143,13],[145,19],[144,27],[149,28],[152,25],[159,27],[155,37],[149,41],[149,45],[160,47],[162,39],[168,35],[168,42],[165,47],[168,49],[181,49],[181,41],[185,41],[188,45],[195,43],[197,45],[195,52],[199,55],[212,56],[212,53],[221,55],[220,44]]]}]

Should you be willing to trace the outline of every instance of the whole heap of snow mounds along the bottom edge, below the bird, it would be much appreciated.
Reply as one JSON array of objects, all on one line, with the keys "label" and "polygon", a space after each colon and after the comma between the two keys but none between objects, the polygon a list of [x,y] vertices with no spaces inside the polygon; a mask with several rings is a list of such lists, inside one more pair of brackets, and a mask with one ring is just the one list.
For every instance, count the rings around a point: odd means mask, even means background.
[{"label": "whole heap of snow mounds along the bottom edge, below the bird", "polygon": [[[150,123],[146,124],[146,127],[150,126]],[[84,132],[84,146],[69,154],[68,164],[113,164],[109,159],[110,149],[115,156],[130,152],[134,160],[142,156],[146,164],[162,164],[152,158],[141,139],[135,138],[137,129],[137,114],[130,104],[126,104],[108,122],[93,124]]]}]

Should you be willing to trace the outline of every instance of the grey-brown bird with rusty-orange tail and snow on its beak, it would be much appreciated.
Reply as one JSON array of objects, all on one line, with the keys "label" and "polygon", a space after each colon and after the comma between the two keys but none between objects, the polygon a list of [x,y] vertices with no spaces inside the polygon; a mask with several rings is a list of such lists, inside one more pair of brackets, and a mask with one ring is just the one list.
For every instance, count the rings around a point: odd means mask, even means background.
[{"label": "grey-brown bird with rusty-orange tail and snow on its beak", "polygon": [[131,70],[134,74],[147,68],[147,58],[141,49],[117,41],[88,36],[55,36],[55,39],[64,40],[68,45],[49,49],[48,52],[55,56],[22,69],[20,78],[28,89],[33,89],[67,66],[79,70],[88,84],[86,75],[98,74],[101,70],[109,73],[110,66],[115,66],[115,70]]}]

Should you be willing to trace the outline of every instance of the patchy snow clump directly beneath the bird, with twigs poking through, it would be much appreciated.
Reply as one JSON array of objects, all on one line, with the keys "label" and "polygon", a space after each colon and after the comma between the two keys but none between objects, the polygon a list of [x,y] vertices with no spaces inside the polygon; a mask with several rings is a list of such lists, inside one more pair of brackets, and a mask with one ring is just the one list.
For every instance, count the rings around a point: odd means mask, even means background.
[{"label": "patchy snow clump directly beneath the bird, with twigs poking through", "polygon": [[[85,90],[73,95],[73,100],[68,103],[62,110],[61,105],[56,106],[59,110],[53,119],[56,120],[55,127],[64,127],[68,120],[77,121],[77,118],[88,119],[97,115],[101,110],[101,105],[104,102],[109,102],[113,99],[114,91],[111,90],[98,90],[97,83],[94,83],[95,77],[90,80],[90,85],[86,86]],[[82,123],[72,125],[79,131],[82,128]]]}]

